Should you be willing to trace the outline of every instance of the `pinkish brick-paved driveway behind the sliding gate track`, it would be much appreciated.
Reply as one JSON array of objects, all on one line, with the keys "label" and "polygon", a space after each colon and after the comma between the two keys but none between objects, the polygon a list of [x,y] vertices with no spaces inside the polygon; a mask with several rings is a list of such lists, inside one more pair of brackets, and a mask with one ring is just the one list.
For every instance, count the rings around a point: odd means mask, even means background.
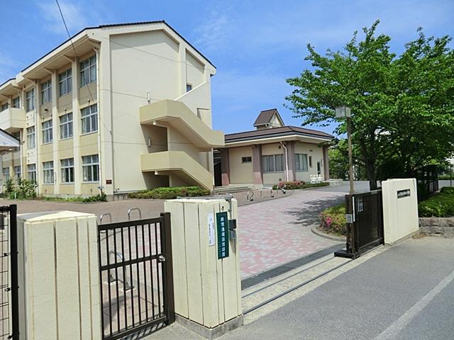
[{"label": "pinkish brick-paved driveway behind the sliding gate track", "polygon": [[318,222],[321,210],[343,201],[343,189],[294,191],[288,198],[239,207],[241,277],[338,243],[316,236],[310,225]]}]

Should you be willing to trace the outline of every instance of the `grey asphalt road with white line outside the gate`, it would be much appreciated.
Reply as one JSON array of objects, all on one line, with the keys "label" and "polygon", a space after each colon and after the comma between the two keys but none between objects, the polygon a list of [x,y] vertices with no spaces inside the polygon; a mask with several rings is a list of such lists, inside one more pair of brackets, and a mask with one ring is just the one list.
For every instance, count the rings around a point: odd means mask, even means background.
[{"label": "grey asphalt road with white line outside the gate", "polygon": [[[358,261],[358,260],[355,260]],[[220,340],[454,339],[454,239],[408,239]],[[173,324],[147,339],[203,339]]]}]

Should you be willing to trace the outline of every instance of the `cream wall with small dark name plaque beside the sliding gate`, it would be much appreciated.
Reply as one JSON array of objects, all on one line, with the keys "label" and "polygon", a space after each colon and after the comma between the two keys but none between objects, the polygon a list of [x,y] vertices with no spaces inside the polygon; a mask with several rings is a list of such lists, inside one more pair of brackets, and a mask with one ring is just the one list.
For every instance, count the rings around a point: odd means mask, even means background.
[{"label": "cream wall with small dark name plaque beside the sliding gate", "polygon": [[[402,196],[409,190],[409,196]],[[384,243],[391,244],[419,229],[416,179],[382,182]]]}]

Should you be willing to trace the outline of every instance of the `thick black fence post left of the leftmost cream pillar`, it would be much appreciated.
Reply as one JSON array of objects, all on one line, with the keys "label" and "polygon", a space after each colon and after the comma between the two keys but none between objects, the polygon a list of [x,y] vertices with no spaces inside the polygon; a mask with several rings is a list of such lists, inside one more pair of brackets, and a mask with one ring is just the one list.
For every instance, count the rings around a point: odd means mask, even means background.
[{"label": "thick black fence post left of the leftmost cream pillar", "polygon": [[11,339],[19,339],[19,280],[18,280],[18,240],[17,205],[9,206],[9,244],[11,253]]}]

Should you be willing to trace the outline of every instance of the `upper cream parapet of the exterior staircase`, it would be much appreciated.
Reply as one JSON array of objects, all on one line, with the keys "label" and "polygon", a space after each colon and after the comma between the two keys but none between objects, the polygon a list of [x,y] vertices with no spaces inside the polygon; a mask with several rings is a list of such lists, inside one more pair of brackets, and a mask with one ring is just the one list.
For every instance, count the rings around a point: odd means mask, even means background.
[{"label": "upper cream parapet of the exterior staircase", "polygon": [[140,124],[173,128],[200,151],[224,146],[223,132],[211,130],[181,101],[164,100],[142,106]]}]

